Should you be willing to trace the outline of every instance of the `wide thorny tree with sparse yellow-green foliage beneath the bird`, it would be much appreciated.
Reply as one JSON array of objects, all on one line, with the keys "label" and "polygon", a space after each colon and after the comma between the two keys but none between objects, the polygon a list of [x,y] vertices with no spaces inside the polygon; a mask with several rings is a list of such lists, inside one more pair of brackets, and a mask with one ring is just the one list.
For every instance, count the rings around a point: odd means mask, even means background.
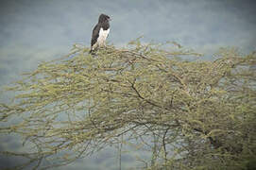
[{"label": "wide thorny tree with sparse yellow-green foliage beneath the bird", "polygon": [[[145,169],[249,169],[256,155],[256,55],[213,61],[159,44],[89,48],[43,62],[7,88],[0,132],[31,146],[15,168],[64,165],[111,144],[151,148]],[[11,123],[15,119],[15,124]],[[7,123],[9,122],[9,123]],[[44,163],[52,162],[51,164]]]}]

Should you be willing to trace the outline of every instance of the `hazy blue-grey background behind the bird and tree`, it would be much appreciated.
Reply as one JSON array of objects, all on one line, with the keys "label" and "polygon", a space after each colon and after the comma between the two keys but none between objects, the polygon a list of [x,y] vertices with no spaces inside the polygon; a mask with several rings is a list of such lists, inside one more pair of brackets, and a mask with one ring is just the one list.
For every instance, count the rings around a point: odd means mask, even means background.
[{"label": "hazy blue-grey background behind the bird and tree", "polygon": [[[144,42],[176,41],[206,56],[221,46],[256,50],[254,0],[0,0],[0,86],[67,54],[74,43],[89,46],[100,13],[111,16],[108,41],[117,46],[144,35]],[[0,136],[0,150],[9,148],[20,145]],[[128,167],[135,159],[123,161]],[[0,168],[13,162],[0,157]],[[114,167],[116,153],[108,150],[65,168]]]}]

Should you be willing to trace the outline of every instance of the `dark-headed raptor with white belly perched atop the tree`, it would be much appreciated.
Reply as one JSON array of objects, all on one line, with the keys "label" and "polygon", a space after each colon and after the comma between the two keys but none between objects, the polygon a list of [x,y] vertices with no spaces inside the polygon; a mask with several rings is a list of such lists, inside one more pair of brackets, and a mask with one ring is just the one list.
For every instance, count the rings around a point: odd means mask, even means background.
[{"label": "dark-headed raptor with white belly perched atop the tree", "polygon": [[98,23],[93,30],[90,53],[98,47],[106,46],[106,39],[110,33],[110,21],[111,18],[108,15],[99,15]]}]

